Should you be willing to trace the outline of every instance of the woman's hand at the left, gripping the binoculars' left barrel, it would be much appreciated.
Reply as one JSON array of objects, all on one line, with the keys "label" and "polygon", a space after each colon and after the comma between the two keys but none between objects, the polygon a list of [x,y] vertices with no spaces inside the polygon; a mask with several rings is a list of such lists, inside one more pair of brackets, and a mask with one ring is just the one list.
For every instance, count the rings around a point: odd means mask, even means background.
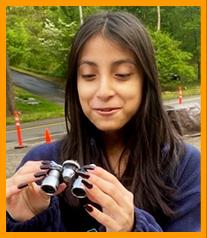
[{"label": "woman's hand at the left, gripping the binoculars' left barrel", "polygon": [[7,211],[14,220],[29,220],[49,206],[50,196],[35,183],[43,179],[48,170],[49,161],[28,161],[7,179]]}]

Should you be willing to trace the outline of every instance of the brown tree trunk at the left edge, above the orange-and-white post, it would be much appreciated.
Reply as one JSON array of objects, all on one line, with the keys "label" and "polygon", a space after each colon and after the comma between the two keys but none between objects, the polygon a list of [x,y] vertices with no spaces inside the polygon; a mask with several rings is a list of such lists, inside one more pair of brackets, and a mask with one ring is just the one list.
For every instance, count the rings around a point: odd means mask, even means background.
[{"label": "brown tree trunk at the left edge, above the orange-and-white post", "polygon": [[6,55],[6,115],[14,115],[15,111],[15,100],[14,100],[14,90],[12,83],[12,75],[9,68],[9,58]]}]

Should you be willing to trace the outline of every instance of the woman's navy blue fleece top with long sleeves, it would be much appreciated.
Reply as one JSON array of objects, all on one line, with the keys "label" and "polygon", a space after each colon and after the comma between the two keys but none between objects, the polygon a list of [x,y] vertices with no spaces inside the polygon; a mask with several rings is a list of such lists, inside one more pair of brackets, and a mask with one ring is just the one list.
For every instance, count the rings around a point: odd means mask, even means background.
[{"label": "woman's navy blue fleece top with long sleeves", "polygon": [[[54,160],[59,156],[59,142],[39,145],[23,158],[20,166],[29,160]],[[177,166],[176,183],[178,193],[174,210],[176,218],[167,218],[164,214],[153,217],[149,212],[134,208],[135,232],[162,231],[200,231],[200,152],[186,144],[186,151]],[[162,220],[160,224],[157,221]],[[51,199],[50,206],[42,213],[25,222],[12,219],[7,213],[7,231],[105,231],[104,227],[93,219],[83,207],[71,207],[60,196]]]}]

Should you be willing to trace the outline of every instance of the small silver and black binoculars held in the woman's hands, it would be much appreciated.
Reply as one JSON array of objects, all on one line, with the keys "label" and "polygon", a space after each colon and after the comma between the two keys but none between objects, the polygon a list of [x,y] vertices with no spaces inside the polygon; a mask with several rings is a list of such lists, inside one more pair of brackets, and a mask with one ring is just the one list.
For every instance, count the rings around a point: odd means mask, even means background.
[{"label": "small silver and black binoculars held in the woman's hands", "polygon": [[82,183],[82,177],[77,174],[78,171],[86,171],[85,168],[93,167],[94,164],[80,166],[77,161],[66,160],[62,165],[51,161],[47,177],[44,178],[41,184],[41,189],[48,195],[54,195],[57,191],[59,184],[65,182],[69,184],[75,178],[71,193],[77,198],[85,198],[85,186]]}]

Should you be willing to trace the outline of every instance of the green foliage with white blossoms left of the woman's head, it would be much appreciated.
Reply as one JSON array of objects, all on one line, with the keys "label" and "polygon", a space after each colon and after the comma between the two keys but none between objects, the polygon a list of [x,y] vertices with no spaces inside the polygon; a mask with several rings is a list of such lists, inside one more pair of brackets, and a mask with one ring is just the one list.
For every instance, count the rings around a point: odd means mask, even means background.
[{"label": "green foliage with white blossoms left of the woman's head", "polygon": [[66,14],[61,7],[9,7],[7,50],[10,64],[63,77],[71,40],[79,26],[74,13],[73,20]]}]

